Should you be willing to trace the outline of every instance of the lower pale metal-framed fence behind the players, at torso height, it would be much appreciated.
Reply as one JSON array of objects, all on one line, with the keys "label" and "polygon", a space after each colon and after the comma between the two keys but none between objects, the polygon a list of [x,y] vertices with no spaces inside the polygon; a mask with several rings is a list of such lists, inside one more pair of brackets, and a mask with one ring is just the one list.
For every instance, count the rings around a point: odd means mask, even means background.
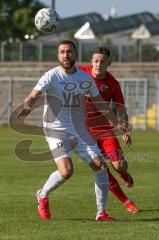
[{"label": "lower pale metal-framed fence behind the players, at torso height", "polygon": [[[23,103],[24,98],[37,82],[37,77],[0,77],[0,122],[8,123],[13,109]],[[153,128],[159,130],[159,77],[119,78],[125,97],[129,119],[134,129]],[[43,108],[35,110],[29,117],[31,122],[41,125]]]}]

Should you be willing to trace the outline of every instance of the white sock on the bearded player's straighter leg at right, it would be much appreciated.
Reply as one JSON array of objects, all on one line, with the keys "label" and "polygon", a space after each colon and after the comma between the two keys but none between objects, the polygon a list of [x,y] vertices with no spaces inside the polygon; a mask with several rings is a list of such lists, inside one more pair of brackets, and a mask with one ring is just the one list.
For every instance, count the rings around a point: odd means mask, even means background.
[{"label": "white sock on the bearded player's straighter leg at right", "polygon": [[109,177],[106,170],[96,171],[95,194],[97,212],[102,212],[106,207],[109,192]]}]

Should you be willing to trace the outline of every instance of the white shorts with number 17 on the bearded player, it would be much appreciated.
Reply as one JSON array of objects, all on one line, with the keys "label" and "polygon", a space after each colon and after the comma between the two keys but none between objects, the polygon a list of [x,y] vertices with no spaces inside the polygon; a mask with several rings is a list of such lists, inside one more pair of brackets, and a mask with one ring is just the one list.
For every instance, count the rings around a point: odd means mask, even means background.
[{"label": "white shorts with number 17 on the bearded player", "polygon": [[71,151],[73,150],[88,164],[94,157],[102,155],[98,145],[87,131],[82,136],[74,136],[70,133],[62,133],[62,136],[59,133],[59,135],[56,134],[56,137],[46,136],[46,141],[55,161],[63,157],[71,158]]}]

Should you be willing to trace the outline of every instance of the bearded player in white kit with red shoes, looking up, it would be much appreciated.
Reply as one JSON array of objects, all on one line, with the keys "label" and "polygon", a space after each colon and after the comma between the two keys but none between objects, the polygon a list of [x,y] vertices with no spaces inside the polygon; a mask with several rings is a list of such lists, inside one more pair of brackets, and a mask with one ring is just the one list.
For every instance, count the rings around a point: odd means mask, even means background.
[{"label": "bearded player in white kit with red shoes, looking up", "polygon": [[[85,94],[97,103],[102,98],[91,76],[75,66],[76,58],[75,44],[61,41],[58,44],[59,66],[41,77],[18,114],[18,117],[27,116],[38,96],[45,93],[43,128],[57,170],[37,191],[38,212],[44,220],[51,218],[48,196],[73,174],[70,152],[74,149],[95,172],[96,220],[111,221],[114,218],[105,211],[109,187],[107,167],[97,144],[86,130],[84,117]],[[109,121],[119,130],[129,131],[117,121],[109,106],[104,105]]]}]

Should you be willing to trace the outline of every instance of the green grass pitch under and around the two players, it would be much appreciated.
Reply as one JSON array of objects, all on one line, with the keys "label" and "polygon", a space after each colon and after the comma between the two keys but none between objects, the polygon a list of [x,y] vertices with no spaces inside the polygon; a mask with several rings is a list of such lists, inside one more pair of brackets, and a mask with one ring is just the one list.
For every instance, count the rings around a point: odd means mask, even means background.
[{"label": "green grass pitch under and around the two players", "polygon": [[[96,222],[94,174],[74,155],[74,175],[50,196],[51,221],[37,214],[36,190],[56,169],[52,161],[19,160],[14,149],[34,139],[32,151],[47,150],[42,137],[0,129],[0,240],[157,240],[159,239],[159,134],[134,131],[134,146],[124,147],[134,187],[126,188],[140,212],[132,215],[111,194],[107,209],[116,222]],[[115,175],[115,173],[114,173]]]}]

